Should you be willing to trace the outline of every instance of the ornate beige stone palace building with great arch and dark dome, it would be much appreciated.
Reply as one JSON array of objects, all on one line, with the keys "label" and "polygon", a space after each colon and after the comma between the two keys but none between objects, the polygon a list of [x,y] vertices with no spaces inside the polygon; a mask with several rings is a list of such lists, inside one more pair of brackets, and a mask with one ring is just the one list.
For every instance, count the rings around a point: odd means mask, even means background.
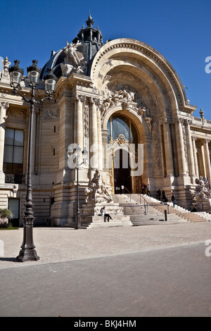
[{"label": "ornate beige stone palace building with great arch and dark dome", "polygon": [[[58,78],[53,100],[35,106],[32,123],[34,225],[51,217],[55,226],[74,227],[78,207],[92,218],[104,205],[124,214],[118,196],[139,196],[143,204],[143,185],[155,199],[160,188],[191,210],[197,179],[210,188],[211,121],[202,110],[193,115],[197,107],[179,76],[152,46],[127,38],[103,43],[91,15],[86,25],[51,52],[35,90],[36,99],[46,96],[51,69]],[[13,94],[12,60],[5,58],[0,71],[0,208],[13,211],[21,226],[30,106]],[[20,91],[30,97],[27,76]]]}]

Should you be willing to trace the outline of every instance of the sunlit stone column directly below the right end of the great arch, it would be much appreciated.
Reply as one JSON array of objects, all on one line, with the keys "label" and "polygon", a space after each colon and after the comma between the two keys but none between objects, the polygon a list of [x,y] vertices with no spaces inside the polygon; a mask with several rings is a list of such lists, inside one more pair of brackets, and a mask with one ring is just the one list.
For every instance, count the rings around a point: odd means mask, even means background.
[{"label": "sunlit stone column directly below the right end of the great arch", "polygon": [[176,133],[176,139],[177,139],[177,155],[179,159],[179,175],[181,176],[187,176],[187,168],[186,168],[186,157],[184,153],[184,138],[183,138],[183,132],[182,132],[182,125],[183,119],[178,118],[177,119],[177,133]]}]

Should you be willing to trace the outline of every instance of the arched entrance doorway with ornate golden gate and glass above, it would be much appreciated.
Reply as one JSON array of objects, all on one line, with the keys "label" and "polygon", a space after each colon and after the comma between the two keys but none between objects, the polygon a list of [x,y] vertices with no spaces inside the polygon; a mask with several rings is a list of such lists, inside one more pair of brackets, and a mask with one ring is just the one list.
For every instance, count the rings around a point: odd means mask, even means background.
[{"label": "arched entrance doorway with ornate golden gate and glass above", "polygon": [[112,155],[113,193],[140,192],[141,177],[134,177],[133,163],[138,151],[138,132],[131,119],[114,113],[108,120],[108,144]]}]

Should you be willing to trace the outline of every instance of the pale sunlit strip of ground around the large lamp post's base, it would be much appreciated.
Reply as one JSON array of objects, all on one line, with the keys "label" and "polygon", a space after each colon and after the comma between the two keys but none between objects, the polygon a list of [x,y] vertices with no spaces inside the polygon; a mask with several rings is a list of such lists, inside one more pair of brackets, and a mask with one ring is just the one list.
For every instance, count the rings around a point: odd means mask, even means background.
[{"label": "pale sunlit strip of ground around the large lamp post's base", "polygon": [[[74,230],[68,227],[34,227],[34,245],[40,260],[18,263],[23,228],[1,230],[4,256],[0,269],[41,263],[115,256],[211,239],[211,222],[139,227],[108,227]],[[1,242],[2,243],[2,242]]]}]

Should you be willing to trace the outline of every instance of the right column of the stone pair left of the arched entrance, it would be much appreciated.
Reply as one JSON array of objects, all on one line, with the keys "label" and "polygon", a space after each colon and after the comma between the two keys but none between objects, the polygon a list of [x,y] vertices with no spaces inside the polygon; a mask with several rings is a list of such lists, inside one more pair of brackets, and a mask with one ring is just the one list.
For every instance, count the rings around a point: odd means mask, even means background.
[{"label": "right column of the stone pair left of the arched entrance", "polygon": [[96,100],[90,98],[90,168],[96,170],[98,168],[98,121]]}]

